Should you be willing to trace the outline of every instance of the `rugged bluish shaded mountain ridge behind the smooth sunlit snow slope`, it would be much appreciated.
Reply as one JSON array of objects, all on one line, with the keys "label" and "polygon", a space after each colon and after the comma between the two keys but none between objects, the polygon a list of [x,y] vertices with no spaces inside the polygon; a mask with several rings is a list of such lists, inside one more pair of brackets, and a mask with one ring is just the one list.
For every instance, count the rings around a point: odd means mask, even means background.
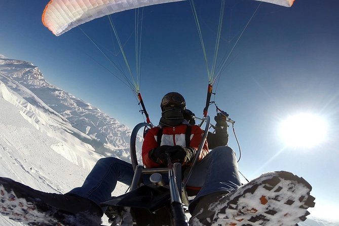
[{"label": "rugged bluish shaded mountain ridge behind the smooth sunlit snow slope", "polygon": [[[72,129],[82,132],[72,134],[90,144],[95,152],[129,161],[131,131],[93,105],[49,84],[36,66],[0,56],[0,80],[30,104],[69,122]],[[139,137],[137,148],[140,147]]]}]

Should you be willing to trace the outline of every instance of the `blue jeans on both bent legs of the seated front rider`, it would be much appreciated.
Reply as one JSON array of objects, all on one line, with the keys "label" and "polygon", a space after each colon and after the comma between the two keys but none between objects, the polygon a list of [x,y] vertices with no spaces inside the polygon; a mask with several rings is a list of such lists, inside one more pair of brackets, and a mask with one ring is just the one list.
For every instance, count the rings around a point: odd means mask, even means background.
[{"label": "blue jeans on both bent legs of the seated front rider", "polygon": [[[187,173],[187,172],[184,172]],[[130,163],[108,157],[98,160],[84,184],[71,190],[75,194],[100,204],[111,198],[117,181],[131,185],[134,171]],[[197,163],[189,186],[201,186],[196,199],[217,192],[230,192],[241,185],[238,164],[231,147],[216,147]]]}]

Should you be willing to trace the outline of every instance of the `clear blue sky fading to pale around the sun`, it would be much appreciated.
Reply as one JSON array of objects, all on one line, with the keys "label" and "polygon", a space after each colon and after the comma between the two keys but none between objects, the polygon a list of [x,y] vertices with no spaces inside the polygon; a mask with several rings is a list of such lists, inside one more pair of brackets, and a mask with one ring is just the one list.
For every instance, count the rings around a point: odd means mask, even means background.
[{"label": "clear blue sky fading to pale around the sun", "polygon": [[[210,2],[197,0],[196,6],[205,44],[213,50],[219,1]],[[47,81],[130,128],[142,122],[132,91],[107,72],[102,65],[111,65],[80,29],[56,37],[43,26],[41,15],[47,3],[0,0],[0,53],[39,66]],[[259,2],[227,4],[222,54],[232,48]],[[262,3],[213,90],[218,106],[236,121],[241,172],[248,179],[274,170],[303,176],[317,198],[319,212],[311,210],[314,215],[324,214],[320,207],[339,210],[338,8],[336,0],[295,0],[291,8]],[[127,53],[134,48],[133,17],[134,12],[112,16]],[[171,91],[181,93],[187,108],[201,117],[208,79],[190,4],[147,7],[143,19],[140,90],[150,120],[159,122],[161,98]],[[121,61],[106,17],[80,27],[107,52],[117,55],[115,62]],[[310,112],[327,122],[322,143],[296,149],[281,140],[281,121],[299,112]],[[214,105],[209,113],[215,115]],[[318,128],[314,124],[314,131]],[[229,145],[238,153],[231,128],[229,132]]]}]

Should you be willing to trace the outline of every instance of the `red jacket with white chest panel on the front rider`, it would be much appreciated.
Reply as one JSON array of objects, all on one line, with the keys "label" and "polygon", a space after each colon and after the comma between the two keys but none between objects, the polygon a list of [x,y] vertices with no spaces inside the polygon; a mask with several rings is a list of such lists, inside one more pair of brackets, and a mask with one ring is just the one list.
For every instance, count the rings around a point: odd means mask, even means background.
[{"label": "red jacket with white chest panel on the front rider", "polygon": [[[194,125],[191,127],[191,141],[190,146],[198,150],[200,141],[204,135],[204,131],[199,126]],[[148,153],[150,150],[158,147],[158,132],[160,127],[153,127],[146,133],[142,143],[142,163],[146,168],[157,168],[160,165],[149,158]],[[163,127],[163,135],[161,137],[161,145],[181,145],[186,146],[185,134],[187,125],[179,125],[175,127]],[[198,161],[202,160],[208,154],[207,140],[204,147],[200,152]]]}]

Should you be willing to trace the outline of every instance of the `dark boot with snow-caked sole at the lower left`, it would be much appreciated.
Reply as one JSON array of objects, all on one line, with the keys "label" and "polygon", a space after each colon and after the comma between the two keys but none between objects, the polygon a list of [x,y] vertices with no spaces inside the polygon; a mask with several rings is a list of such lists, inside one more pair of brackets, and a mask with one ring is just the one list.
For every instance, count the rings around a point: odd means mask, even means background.
[{"label": "dark boot with snow-caked sole at the lower left", "polygon": [[27,225],[97,226],[102,210],[72,194],[45,193],[10,178],[0,177],[0,213]]}]

